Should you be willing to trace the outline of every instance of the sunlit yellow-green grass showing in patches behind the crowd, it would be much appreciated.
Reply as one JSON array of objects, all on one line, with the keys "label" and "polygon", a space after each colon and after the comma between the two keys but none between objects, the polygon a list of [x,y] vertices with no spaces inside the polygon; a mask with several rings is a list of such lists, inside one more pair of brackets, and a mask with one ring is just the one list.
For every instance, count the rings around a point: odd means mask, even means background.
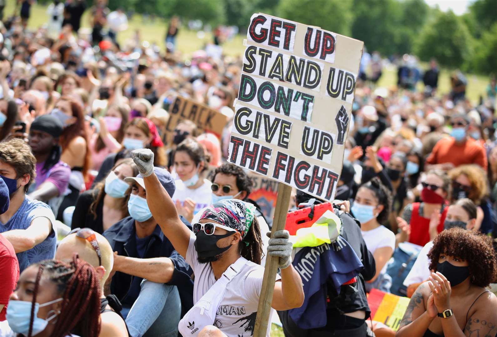
[{"label": "sunlit yellow-green grass showing in patches behind the crowd", "polygon": [[[14,0],[7,0],[4,10],[5,16],[10,16],[14,9]],[[31,7],[31,18],[28,27],[36,29],[48,20],[46,14],[46,6],[34,4]],[[89,11],[86,10],[82,18],[82,27],[89,28]],[[118,41],[124,46],[128,39],[132,39],[135,30],[140,31],[142,40],[150,43],[157,43],[161,50],[164,50],[164,36],[166,31],[166,20],[156,18],[154,22],[143,20],[141,15],[135,15],[129,22],[128,30],[119,33]],[[227,41],[224,45],[226,55],[240,56],[245,50],[243,46],[243,35],[236,36],[233,40]],[[182,53],[183,57],[187,57],[196,50],[202,49],[207,42],[212,41],[212,33],[205,33],[203,36],[197,32],[181,28],[177,37],[177,49]],[[447,94],[450,91],[449,70],[442,69],[439,77],[438,95]],[[467,74],[468,86],[467,95],[473,103],[477,103],[480,95],[485,96],[485,89],[488,85],[488,78],[480,75]],[[383,69],[383,75],[379,81],[379,85],[390,87],[397,83],[397,70],[395,68]]]}]

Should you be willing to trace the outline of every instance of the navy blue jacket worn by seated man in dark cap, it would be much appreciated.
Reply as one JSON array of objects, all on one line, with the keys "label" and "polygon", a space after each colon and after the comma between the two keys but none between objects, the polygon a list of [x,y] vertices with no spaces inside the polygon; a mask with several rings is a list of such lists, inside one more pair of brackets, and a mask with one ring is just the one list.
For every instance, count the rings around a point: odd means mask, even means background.
[{"label": "navy blue jacket worn by seated man in dark cap", "polygon": [[[181,221],[191,230],[191,225],[181,217]],[[132,217],[124,218],[123,220],[112,225],[102,234],[109,241],[112,251],[117,251],[117,254],[122,256],[139,258],[136,251],[136,227],[135,220]],[[193,306],[193,281],[191,275],[193,270],[186,263],[181,255],[174,249],[172,243],[164,236],[159,225],[156,225],[154,232],[151,235],[149,244],[143,256],[144,259],[155,257],[168,257],[174,264],[171,281],[166,284],[176,285],[178,287],[179,296],[181,298],[181,317]],[[132,284],[140,284],[142,281],[133,282],[137,278],[129,274],[116,272],[110,284],[112,294],[122,301]],[[139,293],[140,289],[134,289],[135,293]],[[137,291],[136,291],[137,290]],[[129,300],[129,299],[128,299]],[[134,299],[136,300],[136,298]],[[133,301],[134,301],[133,300]]]}]

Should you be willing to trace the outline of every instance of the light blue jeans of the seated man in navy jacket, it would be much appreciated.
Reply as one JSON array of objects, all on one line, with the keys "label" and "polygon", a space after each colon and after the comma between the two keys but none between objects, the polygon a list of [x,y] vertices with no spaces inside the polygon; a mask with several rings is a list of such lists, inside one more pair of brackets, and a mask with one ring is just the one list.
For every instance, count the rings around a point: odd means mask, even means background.
[{"label": "light blue jeans of the seated man in navy jacket", "polygon": [[143,280],[140,294],[131,308],[123,307],[130,336],[176,337],[181,301],[175,285]]}]

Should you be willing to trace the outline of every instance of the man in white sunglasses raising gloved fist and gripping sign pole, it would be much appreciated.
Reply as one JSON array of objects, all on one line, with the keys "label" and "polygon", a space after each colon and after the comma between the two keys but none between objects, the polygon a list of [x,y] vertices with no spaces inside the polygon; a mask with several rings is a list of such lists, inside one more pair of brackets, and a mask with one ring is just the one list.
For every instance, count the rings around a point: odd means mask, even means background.
[{"label": "man in white sunglasses raising gloved fist and gripping sign pole", "polygon": [[[192,234],[154,173],[153,152],[135,150],[132,157],[144,177],[152,215],[195,275],[195,304],[179,322],[179,332],[183,336],[253,335],[264,273],[259,265],[261,234],[255,207],[237,199],[221,200],[204,211]],[[276,310],[297,308],[304,301],[301,278],[291,264],[288,238],[288,231],[280,230],[267,248],[269,255],[279,257],[281,269],[271,301]]]}]

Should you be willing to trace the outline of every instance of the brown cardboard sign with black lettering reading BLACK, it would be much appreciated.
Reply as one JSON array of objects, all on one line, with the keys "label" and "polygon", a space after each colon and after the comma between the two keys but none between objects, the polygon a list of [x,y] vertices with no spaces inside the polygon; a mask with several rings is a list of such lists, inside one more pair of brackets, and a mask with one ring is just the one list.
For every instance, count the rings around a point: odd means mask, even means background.
[{"label": "brown cardboard sign with black lettering reading BLACK", "polygon": [[228,117],[204,104],[178,96],[169,107],[169,120],[166,124],[166,141],[172,141],[173,131],[180,120],[193,121],[201,131],[214,133],[221,137]]}]

